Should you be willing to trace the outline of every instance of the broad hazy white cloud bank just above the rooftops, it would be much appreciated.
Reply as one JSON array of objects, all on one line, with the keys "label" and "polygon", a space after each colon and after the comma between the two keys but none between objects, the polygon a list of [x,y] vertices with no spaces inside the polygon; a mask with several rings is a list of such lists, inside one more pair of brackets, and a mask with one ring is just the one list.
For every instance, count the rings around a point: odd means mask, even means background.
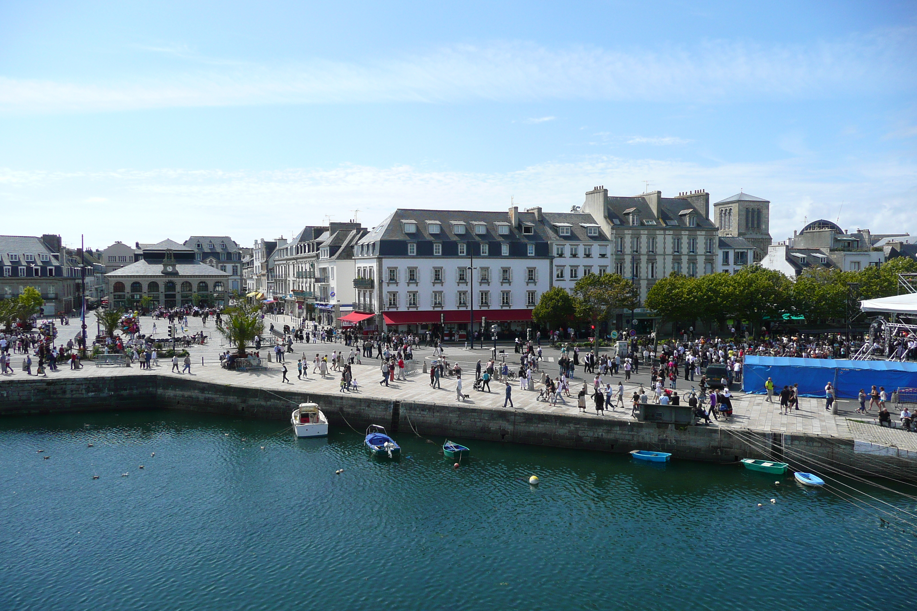
[{"label": "broad hazy white cloud bank just above the rooftops", "polygon": [[[296,224],[321,224],[330,213],[344,221],[356,209],[361,211],[359,220],[372,225],[399,207],[506,210],[514,195],[521,207],[565,212],[582,203],[591,185],[602,184],[614,195],[634,195],[643,191],[643,180],[652,180],[664,196],[703,188],[715,202],[744,188],[767,198],[775,240],[792,235],[806,218],[834,219],[841,202],[844,227],[917,235],[912,213],[917,207],[917,165],[900,159],[831,171],[798,158],[705,167],[606,156],[504,173],[356,165],[273,171],[0,169],[0,208],[6,211],[5,223],[17,227],[17,233],[60,233],[70,241],[84,233],[93,247],[115,240],[183,240],[202,232],[251,244],[259,237],[287,235],[294,229],[293,218]],[[85,203],[90,198],[94,201]],[[142,222],[125,224],[126,211],[138,214]]]}]

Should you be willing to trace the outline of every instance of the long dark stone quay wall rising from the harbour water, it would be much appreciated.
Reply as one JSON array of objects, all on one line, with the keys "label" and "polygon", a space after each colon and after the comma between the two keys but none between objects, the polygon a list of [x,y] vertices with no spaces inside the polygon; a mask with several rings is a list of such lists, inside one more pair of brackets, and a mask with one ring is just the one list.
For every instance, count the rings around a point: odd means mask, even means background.
[{"label": "long dark stone quay wall rising from the harbour water", "polygon": [[319,404],[333,426],[358,432],[381,424],[390,433],[627,453],[669,452],[679,459],[735,463],[742,458],[845,465],[900,478],[906,459],[853,451],[852,439],[597,418],[580,414],[492,409],[352,395],[268,391],[169,376],[13,379],[0,382],[0,416],[124,409],[185,409],[289,421],[294,404]]}]

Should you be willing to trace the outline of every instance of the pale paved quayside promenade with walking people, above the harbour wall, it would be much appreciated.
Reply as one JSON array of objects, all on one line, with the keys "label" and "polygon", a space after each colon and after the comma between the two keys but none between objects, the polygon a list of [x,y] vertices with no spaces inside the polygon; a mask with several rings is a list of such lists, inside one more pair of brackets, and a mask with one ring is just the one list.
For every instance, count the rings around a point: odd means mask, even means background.
[{"label": "pale paved quayside promenade with walking people, above the harbour wall", "polygon": [[[284,323],[289,323],[289,319],[283,316],[268,317],[265,319],[265,326],[274,326],[282,329]],[[152,333],[154,321],[149,317],[141,318],[141,333]],[[157,338],[165,338],[167,335],[168,322],[156,321]],[[69,328],[64,327],[64,333],[61,338],[66,341],[67,334],[72,329],[76,332],[78,326],[71,325]],[[288,369],[289,383],[282,382],[281,365],[276,362],[267,364],[267,367],[260,370],[249,372],[230,371],[219,366],[218,355],[226,351],[227,346],[222,342],[222,337],[216,333],[213,321],[207,322],[206,326],[202,325],[201,319],[190,318],[189,333],[196,333],[204,330],[209,336],[206,345],[194,345],[189,349],[192,355],[192,372],[190,376],[207,382],[217,384],[226,384],[240,387],[260,387],[264,389],[282,389],[296,390],[299,392],[316,392],[316,393],[336,393],[340,391],[339,378],[335,372],[329,372],[326,377],[321,377],[313,373],[311,362],[307,367],[308,375],[303,379],[297,379],[296,361],[304,357],[311,361],[315,354],[331,355],[333,350],[343,349],[345,355],[348,355],[350,348],[344,344],[321,343],[318,344],[293,344],[294,353],[284,355],[285,363]],[[486,346],[486,344],[485,344]],[[262,356],[270,349],[263,348]],[[517,356],[514,354],[512,346],[505,347],[506,362],[518,366]],[[488,409],[503,409],[504,388],[503,383],[493,380],[491,387],[493,392],[478,392],[472,389],[474,379],[473,365],[478,359],[486,363],[491,355],[491,350],[485,348],[481,350],[468,350],[464,344],[447,344],[444,347],[444,353],[447,360],[451,362],[458,361],[465,367],[465,373],[462,376],[463,393],[470,397],[465,399],[465,404],[469,406],[479,406]],[[559,351],[543,346],[545,361],[541,367],[547,368],[552,375],[558,374],[556,360]],[[415,351],[414,358],[420,362],[425,356],[432,355],[432,348],[421,347]],[[16,359],[14,359],[16,364]],[[444,376],[440,380],[441,388],[430,387],[429,376],[418,372],[414,376],[408,376],[406,380],[390,382],[390,386],[381,385],[381,373],[379,370],[380,362],[377,359],[364,359],[361,364],[353,366],[354,377],[358,383],[358,389],[349,391],[348,394],[356,397],[373,397],[373,398],[391,398],[404,401],[424,401],[432,403],[449,403],[458,401],[456,398],[456,380],[450,376]],[[469,366],[472,368],[469,370]],[[584,416],[586,418],[604,418],[632,420],[630,397],[634,389],[640,385],[649,387],[649,368],[641,367],[640,374],[631,377],[630,381],[624,382],[624,402],[625,407],[606,410],[604,415],[597,415],[593,409],[591,400],[587,401],[587,410]],[[137,365],[130,367],[116,366],[94,366],[86,363],[80,371],[72,371],[68,366],[63,366],[57,372],[49,372],[50,378],[64,376],[125,376],[125,375],[150,375],[150,376],[187,376],[189,374],[178,374],[171,372],[171,362],[167,359],[161,359],[159,366],[153,366],[149,371],[140,369]],[[537,400],[538,391],[541,385],[536,384],[536,390],[523,390],[518,382],[513,385],[513,404],[514,409],[524,409],[526,411],[542,411],[556,413],[580,414],[577,407],[576,394],[584,381],[589,385],[591,390],[592,379],[594,376],[586,375],[586,380],[582,377],[581,370],[577,372],[577,377],[571,381],[571,397],[564,398],[563,403],[558,402],[557,406],[551,406],[547,401]],[[17,367],[17,372],[13,376],[5,376],[4,379],[25,376]],[[619,381],[624,381],[624,376],[602,376],[602,383],[611,383],[614,388]],[[684,393],[690,390],[691,382],[679,380],[679,392]],[[278,399],[280,400],[280,399]],[[787,433],[805,433],[814,435],[830,435],[833,437],[845,439],[859,439],[868,442],[881,443],[884,445],[895,445],[896,447],[917,450],[917,433],[906,431],[889,431],[880,429],[876,426],[875,414],[861,416],[854,413],[856,405],[853,401],[839,401],[839,413],[837,416],[832,415],[824,409],[824,400],[820,398],[801,398],[800,409],[793,410],[790,415],[780,415],[779,403],[775,399],[769,403],[764,395],[752,395],[738,392],[733,398],[734,415],[732,418],[713,420],[710,424],[712,427],[726,427],[733,429],[749,429],[753,431],[778,431]],[[507,408],[508,409],[508,408]],[[848,419],[859,420],[850,422]],[[864,423],[861,423],[864,422]]]}]

